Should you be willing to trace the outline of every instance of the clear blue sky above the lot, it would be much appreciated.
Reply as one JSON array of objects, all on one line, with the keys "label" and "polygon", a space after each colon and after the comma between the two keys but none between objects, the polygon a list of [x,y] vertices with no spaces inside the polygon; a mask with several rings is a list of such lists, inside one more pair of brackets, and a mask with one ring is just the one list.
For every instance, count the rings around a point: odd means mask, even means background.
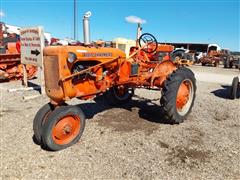
[{"label": "clear blue sky above the lot", "polygon": [[[218,43],[240,50],[239,0],[79,0],[78,38],[82,15],[92,12],[92,40],[134,39],[136,25],[125,17],[147,21],[143,32],[161,42]],[[1,0],[1,21],[16,26],[42,25],[54,37],[73,37],[73,0]]]}]

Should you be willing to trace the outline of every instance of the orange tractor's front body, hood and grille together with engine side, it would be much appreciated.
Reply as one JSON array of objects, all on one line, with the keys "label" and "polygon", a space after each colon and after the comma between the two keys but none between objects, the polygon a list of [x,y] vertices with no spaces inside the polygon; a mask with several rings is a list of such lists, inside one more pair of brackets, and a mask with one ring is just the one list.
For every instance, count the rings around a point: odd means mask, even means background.
[{"label": "orange tractor's front body, hood and grille together with engine side", "polygon": [[[68,62],[68,52],[77,55],[77,59]],[[92,69],[91,72],[77,76],[79,78],[65,77],[74,74],[74,65],[81,62],[87,64],[105,63],[109,60],[116,61],[104,64],[101,68]],[[54,101],[71,99],[73,97],[83,97],[90,94],[104,92],[111,85],[113,78],[109,75],[111,70],[116,71],[116,67],[125,60],[125,54],[121,50],[114,48],[88,48],[82,46],[52,46],[44,49],[44,68],[46,93]],[[80,70],[81,70],[81,66]],[[103,72],[104,70],[104,72]],[[117,73],[116,73],[117,76]]]}]

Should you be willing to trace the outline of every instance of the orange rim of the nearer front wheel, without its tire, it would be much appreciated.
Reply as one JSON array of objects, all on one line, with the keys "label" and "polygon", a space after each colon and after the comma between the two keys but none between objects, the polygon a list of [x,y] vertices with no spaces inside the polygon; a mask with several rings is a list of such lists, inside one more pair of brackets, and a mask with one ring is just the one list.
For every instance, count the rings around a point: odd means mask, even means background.
[{"label": "orange rim of the nearer front wheel, without its tire", "polygon": [[80,131],[80,118],[78,116],[65,116],[60,119],[52,130],[52,138],[56,144],[68,144],[77,137]]}]

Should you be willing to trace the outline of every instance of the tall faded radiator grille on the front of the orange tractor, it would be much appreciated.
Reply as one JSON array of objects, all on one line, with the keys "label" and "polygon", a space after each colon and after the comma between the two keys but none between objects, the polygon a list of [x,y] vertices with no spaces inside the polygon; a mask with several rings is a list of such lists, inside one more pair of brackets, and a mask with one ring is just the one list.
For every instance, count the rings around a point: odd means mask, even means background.
[{"label": "tall faded radiator grille on the front of the orange tractor", "polygon": [[44,56],[44,78],[46,91],[59,89],[59,65],[57,56]]}]

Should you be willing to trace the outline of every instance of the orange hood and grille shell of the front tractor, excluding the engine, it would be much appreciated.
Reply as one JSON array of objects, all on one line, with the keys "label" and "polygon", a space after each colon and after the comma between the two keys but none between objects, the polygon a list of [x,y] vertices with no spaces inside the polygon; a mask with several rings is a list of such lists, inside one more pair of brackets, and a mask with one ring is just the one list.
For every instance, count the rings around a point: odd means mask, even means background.
[{"label": "orange hood and grille shell of the front tractor, excluding the engine", "polygon": [[[87,63],[86,67],[88,67],[116,59],[116,61],[105,65],[107,69],[112,69],[126,59],[123,51],[102,47],[49,46],[44,48],[43,54],[45,89],[47,95],[55,102],[75,97],[80,92],[74,88],[72,79],[62,82],[62,79],[73,74],[76,69],[75,64],[82,63],[84,66]],[[74,57],[73,61],[69,60],[69,55]]]}]

